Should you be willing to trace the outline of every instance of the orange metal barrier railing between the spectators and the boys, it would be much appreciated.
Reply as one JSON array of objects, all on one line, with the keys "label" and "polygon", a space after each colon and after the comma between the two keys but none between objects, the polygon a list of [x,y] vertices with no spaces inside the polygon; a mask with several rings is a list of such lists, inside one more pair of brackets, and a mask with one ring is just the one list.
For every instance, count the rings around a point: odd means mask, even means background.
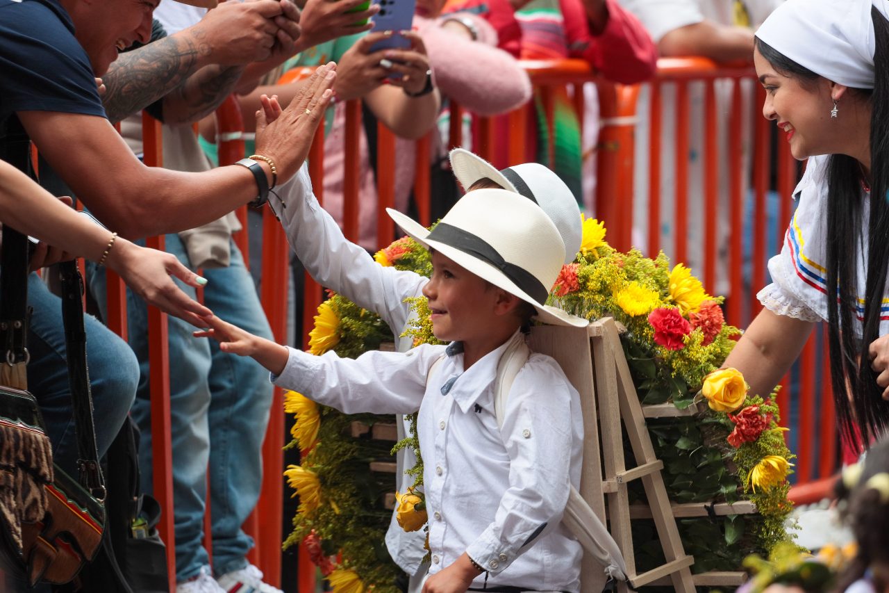
[{"label": "orange metal barrier railing between the spectators and the boys", "polygon": [[[540,92],[541,104],[547,115],[549,124],[549,145],[546,154],[549,158],[553,155],[554,143],[554,96],[557,90],[568,87],[569,94],[573,96],[574,110],[578,115],[581,125],[592,125],[593,122],[584,122],[584,102],[582,87],[592,83],[597,85],[599,96],[599,133],[597,144],[597,190],[595,199],[589,200],[595,204],[595,212],[589,215],[597,215],[605,221],[608,228],[609,241],[615,248],[629,249],[633,244],[634,232],[644,232],[646,239],[639,246],[649,255],[656,254],[661,248],[671,256],[674,262],[685,261],[689,253],[702,254],[700,269],[695,269],[705,284],[705,287],[714,294],[717,284],[717,271],[721,264],[719,260],[720,242],[726,243],[730,254],[727,266],[729,268],[730,297],[727,301],[727,320],[735,325],[744,327],[750,317],[757,313],[759,305],[755,294],[758,288],[765,286],[766,270],[765,258],[770,255],[767,249],[768,231],[767,196],[770,190],[776,191],[780,196],[779,212],[773,223],[773,250],[780,248],[783,240],[783,232],[790,217],[791,203],[790,193],[797,180],[797,169],[793,159],[789,155],[786,145],[781,144],[777,150],[773,150],[770,142],[770,127],[758,113],[761,105],[760,97],[749,96],[754,93],[753,86],[744,87],[744,81],[753,79],[753,71],[749,66],[720,66],[712,61],[691,59],[662,59],[659,61],[659,70],[656,79],[647,85],[647,89],[641,86],[614,85],[599,81],[594,77],[589,65],[582,61],[529,61],[525,62],[535,89]],[[726,95],[722,88],[727,88],[727,101],[730,114],[725,122],[727,150],[720,142],[719,126],[716,125],[720,110],[717,109],[717,95]],[[673,89],[675,101],[669,113],[665,113],[669,100],[665,98],[665,91]],[[694,93],[702,89],[703,118],[705,126],[701,138],[695,138],[690,129],[695,118],[700,117],[700,112],[691,110],[691,102]],[[637,112],[638,102],[642,93],[648,93],[649,102],[647,111],[641,116]],[[757,91],[757,93],[759,93]],[[745,102],[747,96],[747,102]],[[748,107],[745,107],[747,105]],[[451,104],[451,125],[449,135],[445,140],[447,147],[461,146],[462,138],[462,114],[461,106]],[[749,122],[752,124],[745,128],[744,110],[748,109]],[[359,154],[357,152],[359,134],[362,132],[361,107],[358,102],[348,102],[346,107],[346,142],[345,154],[345,201],[344,201],[344,232],[348,239],[356,240],[358,235],[358,167]],[[498,126],[498,118],[473,119],[474,134],[477,144],[475,151],[491,160],[498,167],[506,167],[527,160],[525,145],[529,134],[533,130],[528,129],[528,110],[532,105],[525,105],[505,116],[500,121],[505,121],[505,126]],[[240,112],[233,100],[229,100],[220,107],[217,113],[220,134],[220,163],[234,162],[244,154],[243,139],[240,121]],[[146,163],[152,166],[162,164],[160,154],[160,127],[146,117],[144,128],[144,142]],[[673,122],[673,126],[669,123]],[[637,154],[637,137],[642,126],[646,126],[649,138],[658,139],[658,142],[648,142],[648,146],[640,147],[644,153]],[[696,140],[700,140],[702,152],[701,172],[693,174],[689,168],[688,160],[676,159],[673,170],[665,170],[663,163],[664,152],[661,137],[665,130],[674,129],[670,150],[675,155],[689,154]],[[498,131],[507,129],[508,132],[498,134]],[[395,229],[391,220],[385,215],[385,207],[393,207],[395,204],[395,138],[383,126],[379,126],[378,134],[378,166],[377,189],[380,206],[378,207],[377,235],[380,247],[384,247],[394,237]],[[745,136],[749,134],[749,136]],[[749,151],[751,157],[749,169],[745,166],[746,157],[743,152],[744,138],[749,138],[749,145],[753,150]],[[430,179],[429,164],[431,163],[432,143],[426,138],[416,144],[416,175],[414,181],[414,194],[417,201],[420,221],[430,223]],[[648,166],[649,175],[642,183],[642,187],[636,187],[634,183],[634,171],[639,163]],[[725,164],[722,164],[725,163]],[[727,169],[724,175],[720,175],[720,168]],[[309,155],[309,173],[313,180],[316,197],[323,203],[324,178],[324,130],[319,129]],[[670,186],[674,197],[669,213],[662,216],[661,213],[667,206],[662,193],[665,188],[665,174],[673,176]],[[773,174],[773,175],[770,175]],[[697,176],[696,176],[697,175]],[[700,178],[699,178],[700,177]],[[771,179],[774,179],[772,182]],[[722,204],[719,196],[726,190],[720,187],[720,181],[727,179],[728,204]],[[689,236],[695,230],[695,222],[691,214],[694,212],[695,196],[693,187],[701,187],[702,196],[702,220],[713,222],[720,220],[720,215],[726,214],[733,221],[730,232],[720,233],[716,223],[704,224],[702,229],[701,248],[690,247]],[[748,191],[749,188],[749,191]],[[747,196],[752,200],[752,217],[745,211]],[[643,200],[637,204],[637,200]],[[640,206],[647,213],[644,221],[636,221],[634,228],[634,205]],[[244,209],[239,213],[244,217]],[[750,240],[745,240],[744,225],[740,221],[752,218],[753,231],[750,232]],[[661,240],[661,227],[664,220],[672,220],[676,223],[672,236],[675,240],[672,245],[664,244]],[[247,252],[246,225],[244,232],[236,237],[236,242],[242,251]],[[284,232],[268,212],[265,211],[262,227],[263,254],[261,302],[268,316],[268,321],[273,329],[276,340],[284,342],[287,320],[287,296],[286,286],[288,273],[289,248],[286,245]],[[163,248],[163,239],[154,239],[149,243],[153,247]],[[745,256],[745,247],[749,250]],[[690,251],[691,249],[691,251]],[[245,258],[246,259],[246,258]],[[751,265],[749,282],[745,283],[742,273],[744,264]],[[126,314],[124,288],[118,281],[111,280],[109,272],[108,281],[108,325],[117,333],[125,336]],[[317,305],[321,302],[322,294],[318,285],[306,278],[302,295],[303,308],[301,319],[303,327],[312,327],[313,315]],[[749,311],[745,310],[745,304],[750,304]],[[164,315],[158,313],[153,307],[149,307],[151,316],[149,320],[149,335],[151,340],[151,386],[153,417],[152,426],[156,433],[154,443],[155,456],[155,492],[164,509],[164,519],[161,524],[161,534],[167,542],[169,551],[169,566],[171,573],[171,586],[174,586],[175,568],[173,561],[172,537],[172,451],[170,451],[169,438],[169,361],[166,360],[166,323]],[[300,341],[305,346],[308,336],[303,336]],[[821,342],[823,343],[823,341]],[[818,350],[823,352],[819,353]],[[793,397],[799,402],[797,417],[800,418],[794,429],[798,433],[799,458],[803,461],[818,459],[817,467],[809,463],[797,463],[797,473],[800,483],[810,483],[815,477],[829,476],[837,464],[837,435],[833,429],[833,410],[829,397],[829,370],[828,365],[821,363],[818,370],[818,357],[826,353],[826,347],[816,345],[815,337],[806,345],[800,362],[800,380],[795,386],[794,393],[789,393],[789,387],[793,386],[789,378],[785,378],[782,385],[779,400],[781,410],[784,410],[783,422],[786,425],[789,418],[789,400]],[[821,389],[816,388],[815,379],[820,381]],[[820,422],[815,423],[815,410],[821,409]],[[284,442],[284,413],[281,405],[281,393],[276,389],[273,402],[273,413],[269,420],[266,441],[263,446],[264,478],[260,503],[253,516],[245,524],[245,531],[249,532],[256,541],[256,548],[252,551],[251,561],[260,566],[266,574],[269,583],[280,586],[281,569],[281,541],[282,533],[282,508],[283,508],[283,458],[281,444]],[[158,428],[159,427],[159,428]],[[165,432],[164,432],[165,431]],[[814,442],[816,435],[821,443],[821,451],[816,455]],[[821,488],[819,490],[819,488]],[[820,495],[824,491],[821,482],[813,483],[807,488],[797,487],[799,500],[809,500],[814,495]],[[814,492],[814,494],[813,494]],[[261,529],[260,529],[261,525]],[[315,570],[308,562],[308,556],[304,550],[300,550],[300,591],[314,590]]]}]

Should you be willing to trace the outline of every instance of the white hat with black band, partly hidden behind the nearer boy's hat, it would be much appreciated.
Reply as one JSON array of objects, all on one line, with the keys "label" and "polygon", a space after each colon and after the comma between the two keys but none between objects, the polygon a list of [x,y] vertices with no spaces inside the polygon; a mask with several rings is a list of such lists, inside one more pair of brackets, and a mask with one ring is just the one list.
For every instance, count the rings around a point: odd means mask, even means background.
[{"label": "white hat with black band, partly hidden behind the nearer boy's hat", "polygon": [[451,168],[464,190],[485,177],[504,190],[525,196],[543,208],[556,225],[565,243],[565,264],[571,264],[581,250],[581,208],[574,194],[558,175],[539,163],[525,163],[498,171],[484,158],[469,150],[451,150]]}]

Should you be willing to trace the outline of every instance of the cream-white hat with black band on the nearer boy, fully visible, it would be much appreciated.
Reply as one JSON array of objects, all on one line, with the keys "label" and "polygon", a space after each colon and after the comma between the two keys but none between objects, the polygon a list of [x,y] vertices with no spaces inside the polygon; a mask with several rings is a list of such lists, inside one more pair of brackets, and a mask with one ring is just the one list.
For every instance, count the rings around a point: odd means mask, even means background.
[{"label": "cream-white hat with black band on the nearer boy, fully visible", "polygon": [[397,210],[386,212],[424,247],[533,305],[538,321],[589,325],[545,305],[562,269],[565,245],[556,225],[530,200],[507,190],[469,191],[432,231]]}]

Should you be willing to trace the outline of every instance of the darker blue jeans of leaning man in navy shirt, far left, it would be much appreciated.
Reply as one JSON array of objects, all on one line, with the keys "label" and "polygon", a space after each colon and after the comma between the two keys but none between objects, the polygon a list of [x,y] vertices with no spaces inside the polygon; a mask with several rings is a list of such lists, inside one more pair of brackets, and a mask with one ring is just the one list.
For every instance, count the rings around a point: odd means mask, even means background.
[{"label": "darker blue jeans of leaning man in navy shirt, far left", "polygon": [[[34,394],[52,441],[53,460],[68,475],[77,476],[77,440],[61,299],[35,273],[28,275],[28,306],[33,307],[28,331],[28,390]],[[86,361],[90,372],[93,416],[99,456],[124,424],[136,395],[139,363],[132,350],[92,315],[84,316]]]}]

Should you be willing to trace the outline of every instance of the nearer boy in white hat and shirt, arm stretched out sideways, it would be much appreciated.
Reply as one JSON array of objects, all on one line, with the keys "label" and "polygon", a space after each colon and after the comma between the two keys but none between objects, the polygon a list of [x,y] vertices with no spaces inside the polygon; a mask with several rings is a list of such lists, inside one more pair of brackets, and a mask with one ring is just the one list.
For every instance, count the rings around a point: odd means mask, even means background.
[{"label": "nearer boy in white hat and shirt, arm stretched out sideways", "polygon": [[[432,251],[423,287],[436,337],[408,353],[312,356],[210,318],[225,352],[249,355],[295,389],[346,413],[420,411],[432,565],[424,590],[579,589],[581,546],[560,524],[578,486],[583,426],[556,361],[533,353],[517,373],[502,426],[493,410],[501,355],[530,317],[582,327],[545,305],[565,261],[549,217],[503,190],[470,191],[429,232],[388,213]],[[441,360],[436,371],[429,370]]]}]

